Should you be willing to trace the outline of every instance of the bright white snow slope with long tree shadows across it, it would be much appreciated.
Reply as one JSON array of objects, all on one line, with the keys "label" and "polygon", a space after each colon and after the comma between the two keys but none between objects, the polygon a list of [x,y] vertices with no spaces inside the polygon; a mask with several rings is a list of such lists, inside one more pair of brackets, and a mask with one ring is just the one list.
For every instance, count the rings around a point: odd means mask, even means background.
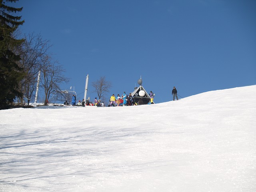
[{"label": "bright white snow slope with long tree shadows across it", "polygon": [[0,110],[0,191],[255,192],[256,86]]}]

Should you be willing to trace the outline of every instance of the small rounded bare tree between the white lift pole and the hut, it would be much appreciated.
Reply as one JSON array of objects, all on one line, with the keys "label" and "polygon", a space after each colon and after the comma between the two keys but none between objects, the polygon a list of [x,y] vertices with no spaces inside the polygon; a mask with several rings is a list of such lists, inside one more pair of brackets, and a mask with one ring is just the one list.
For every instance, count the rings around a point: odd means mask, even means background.
[{"label": "small rounded bare tree between the white lift pole and the hut", "polygon": [[107,81],[106,78],[100,77],[99,80],[92,82],[92,86],[94,87],[94,92],[97,93],[98,98],[101,99],[104,97],[104,94],[109,92],[109,89],[112,87],[112,83]]}]

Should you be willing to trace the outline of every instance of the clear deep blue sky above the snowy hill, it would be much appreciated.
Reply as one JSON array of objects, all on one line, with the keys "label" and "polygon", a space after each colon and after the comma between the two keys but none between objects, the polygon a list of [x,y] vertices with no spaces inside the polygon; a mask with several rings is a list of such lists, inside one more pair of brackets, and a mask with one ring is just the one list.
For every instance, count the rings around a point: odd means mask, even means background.
[{"label": "clear deep blue sky above the snowy hill", "polygon": [[[23,33],[41,34],[84,96],[106,76],[108,96],[142,86],[156,103],[256,84],[255,0],[22,1]],[[245,93],[237,93],[245,99]],[[107,96],[107,97],[108,97]]]}]

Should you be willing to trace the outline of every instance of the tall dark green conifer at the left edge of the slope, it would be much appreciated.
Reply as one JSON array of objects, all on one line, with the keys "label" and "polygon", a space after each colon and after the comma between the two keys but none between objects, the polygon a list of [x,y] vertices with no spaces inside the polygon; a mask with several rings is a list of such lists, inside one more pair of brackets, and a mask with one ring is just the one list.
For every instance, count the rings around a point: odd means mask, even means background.
[{"label": "tall dark green conifer at the left edge of the slope", "polygon": [[20,56],[15,54],[15,48],[23,40],[13,38],[12,34],[24,23],[21,16],[16,16],[23,8],[6,5],[6,2],[16,1],[18,0],[0,0],[0,109],[7,108],[16,97],[22,96],[18,85],[23,72],[17,64]]}]

